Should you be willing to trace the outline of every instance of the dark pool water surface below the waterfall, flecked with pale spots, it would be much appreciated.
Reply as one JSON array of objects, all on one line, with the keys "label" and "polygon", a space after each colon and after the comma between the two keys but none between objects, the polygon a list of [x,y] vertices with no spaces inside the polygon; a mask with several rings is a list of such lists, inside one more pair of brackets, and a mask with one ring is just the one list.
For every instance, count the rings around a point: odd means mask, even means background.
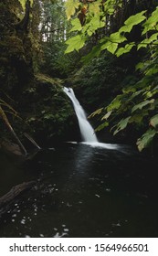
[{"label": "dark pool water surface below the waterfall, flecked with pale spots", "polygon": [[153,159],[86,144],[60,144],[23,164],[0,157],[0,196],[37,181],[1,219],[1,237],[158,237]]}]

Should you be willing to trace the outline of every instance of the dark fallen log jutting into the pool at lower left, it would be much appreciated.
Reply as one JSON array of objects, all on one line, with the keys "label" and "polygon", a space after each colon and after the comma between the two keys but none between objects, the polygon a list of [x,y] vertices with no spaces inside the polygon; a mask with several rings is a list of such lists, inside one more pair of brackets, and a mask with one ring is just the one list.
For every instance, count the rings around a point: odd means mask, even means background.
[{"label": "dark fallen log jutting into the pool at lower left", "polygon": [[23,182],[12,187],[9,192],[7,192],[3,197],[0,197],[0,218],[12,206],[14,200],[27,189],[33,187],[35,183],[35,181]]}]

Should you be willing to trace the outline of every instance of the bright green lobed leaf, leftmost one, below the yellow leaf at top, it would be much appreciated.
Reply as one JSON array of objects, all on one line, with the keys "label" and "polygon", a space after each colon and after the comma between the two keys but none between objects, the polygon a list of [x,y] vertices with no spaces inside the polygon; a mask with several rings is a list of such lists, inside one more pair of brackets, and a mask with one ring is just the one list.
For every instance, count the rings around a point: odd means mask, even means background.
[{"label": "bright green lobed leaf, leftmost one, below the yellow leaf at top", "polygon": [[85,39],[83,37],[75,36],[71,37],[66,41],[66,44],[68,45],[68,48],[66,49],[65,53],[69,53],[76,49],[79,51],[80,48],[82,48],[85,44]]}]

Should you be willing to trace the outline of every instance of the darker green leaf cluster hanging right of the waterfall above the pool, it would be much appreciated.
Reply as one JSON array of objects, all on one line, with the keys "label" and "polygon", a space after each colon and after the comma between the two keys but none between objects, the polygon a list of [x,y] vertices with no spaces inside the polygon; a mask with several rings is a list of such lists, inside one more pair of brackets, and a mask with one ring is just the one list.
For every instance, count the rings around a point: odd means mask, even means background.
[{"label": "darker green leaf cluster hanging right of the waterfall above the pool", "polygon": [[126,84],[121,94],[117,95],[108,106],[91,114],[92,117],[101,115],[101,124],[97,131],[110,126],[115,135],[131,125],[142,131],[146,129],[142,137],[137,140],[140,151],[152,143],[158,133],[158,73],[154,72],[155,69],[158,70],[157,60],[156,54],[148,64],[139,63],[136,68],[142,67],[142,79],[132,85]]}]

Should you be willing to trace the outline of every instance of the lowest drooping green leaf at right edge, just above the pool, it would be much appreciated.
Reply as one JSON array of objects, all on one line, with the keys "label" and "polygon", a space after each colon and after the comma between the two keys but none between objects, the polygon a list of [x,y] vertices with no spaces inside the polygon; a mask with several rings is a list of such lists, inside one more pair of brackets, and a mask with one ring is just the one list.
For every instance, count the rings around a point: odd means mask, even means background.
[{"label": "lowest drooping green leaf at right edge, just above the pool", "polygon": [[142,137],[138,139],[137,145],[139,151],[142,151],[145,147],[149,146],[153,141],[153,137],[156,134],[156,131],[149,129],[146,133],[143,133]]}]

